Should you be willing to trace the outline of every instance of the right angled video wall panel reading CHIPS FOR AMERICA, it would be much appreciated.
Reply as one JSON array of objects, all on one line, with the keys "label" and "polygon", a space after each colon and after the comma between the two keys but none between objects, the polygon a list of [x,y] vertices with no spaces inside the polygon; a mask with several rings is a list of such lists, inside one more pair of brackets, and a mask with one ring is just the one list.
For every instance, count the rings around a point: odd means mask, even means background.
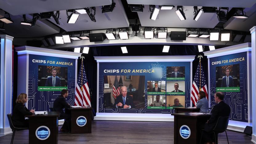
[{"label": "right angled video wall panel reading CHIPS FOR AMERICA", "polygon": [[214,94],[223,92],[230,120],[248,122],[247,59],[247,52],[210,58],[210,105],[216,105]]}]

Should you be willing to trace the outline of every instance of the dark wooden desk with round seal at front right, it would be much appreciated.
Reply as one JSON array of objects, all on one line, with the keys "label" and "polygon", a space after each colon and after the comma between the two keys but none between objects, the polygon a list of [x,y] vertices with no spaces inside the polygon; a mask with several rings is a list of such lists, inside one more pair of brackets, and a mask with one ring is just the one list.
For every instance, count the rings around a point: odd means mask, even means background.
[{"label": "dark wooden desk with round seal at front right", "polygon": [[[190,112],[197,113],[197,112]],[[174,144],[199,144],[201,137],[201,125],[206,123],[211,117],[211,114],[190,114],[190,113],[178,113],[174,115]],[[186,125],[190,129],[190,136],[182,138],[180,131],[181,128]]]}]

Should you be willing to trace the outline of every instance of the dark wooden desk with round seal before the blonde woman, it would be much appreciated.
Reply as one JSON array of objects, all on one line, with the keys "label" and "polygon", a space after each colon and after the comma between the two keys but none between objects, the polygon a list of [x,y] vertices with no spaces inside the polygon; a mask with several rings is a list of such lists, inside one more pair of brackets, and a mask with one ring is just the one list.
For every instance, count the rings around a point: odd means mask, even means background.
[{"label": "dark wooden desk with round seal before the blonde woman", "polygon": [[29,143],[57,144],[59,115],[60,112],[55,111],[48,112],[48,114],[27,115],[26,117],[29,118]]}]

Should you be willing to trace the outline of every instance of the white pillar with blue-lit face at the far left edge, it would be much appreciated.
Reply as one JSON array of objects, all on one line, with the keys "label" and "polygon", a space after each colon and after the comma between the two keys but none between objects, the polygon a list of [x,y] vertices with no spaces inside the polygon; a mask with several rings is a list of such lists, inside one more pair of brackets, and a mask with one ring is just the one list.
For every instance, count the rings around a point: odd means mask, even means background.
[{"label": "white pillar with blue-lit face at the far left edge", "polygon": [[12,36],[1,37],[0,136],[12,133],[7,114],[12,112]]}]

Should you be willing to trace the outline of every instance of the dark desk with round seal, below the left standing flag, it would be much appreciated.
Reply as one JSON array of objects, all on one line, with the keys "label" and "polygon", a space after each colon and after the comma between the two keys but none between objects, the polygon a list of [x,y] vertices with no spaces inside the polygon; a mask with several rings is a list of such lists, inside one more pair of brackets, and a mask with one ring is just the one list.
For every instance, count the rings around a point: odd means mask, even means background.
[{"label": "dark desk with round seal, below the left standing flag", "polygon": [[[71,113],[71,134],[91,133],[92,108],[70,108],[69,110]],[[86,123],[82,125],[84,118],[86,118]],[[79,120],[81,123],[78,123]]]}]

